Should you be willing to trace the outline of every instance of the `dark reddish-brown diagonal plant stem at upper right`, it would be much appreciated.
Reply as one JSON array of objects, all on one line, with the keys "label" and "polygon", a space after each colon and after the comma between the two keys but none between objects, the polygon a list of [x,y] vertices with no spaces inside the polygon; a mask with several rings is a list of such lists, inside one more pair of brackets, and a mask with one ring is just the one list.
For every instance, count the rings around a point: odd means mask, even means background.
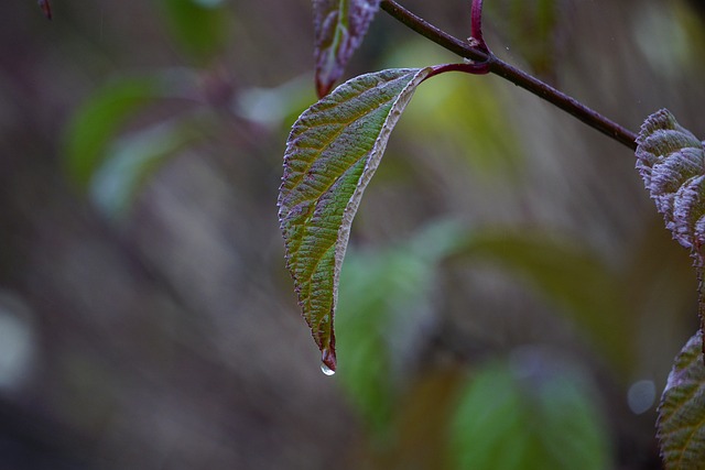
[{"label": "dark reddish-brown diagonal plant stem at upper right", "polygon": [[511,81],[512,84],[536,95],[550,103],[561,108],[568,114],[577,118],[593,129],[628,146],[632,151],[637,149],[637,134],[607,119],[599,112],[586,107],[581,101],[564,92],[553,88],[546,83],[522,72],[503,61],[500,61],[491,53],[486,53],[474,47],[467,42],[460,41],[446,32],[437,29],[433,24],[416,17],[394,0],[381,0],[380,8],[392,18],[400,21],[416,33],[433,41],[442,47],[464,58],[474,62],[486,62],[489,64],[490,73]]}]

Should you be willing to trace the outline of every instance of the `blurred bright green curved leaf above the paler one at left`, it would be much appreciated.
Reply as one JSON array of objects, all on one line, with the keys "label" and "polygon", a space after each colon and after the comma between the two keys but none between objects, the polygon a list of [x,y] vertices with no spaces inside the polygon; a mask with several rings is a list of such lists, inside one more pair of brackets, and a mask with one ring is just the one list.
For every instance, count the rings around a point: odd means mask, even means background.
[{"label": "blurred bright green curved leaf above the paler one at left", "polygon": [[72,118],[65,131],[65,165],[82,188],[106,157],[110,141],[139,109],[165,98],[187,98],[196,76],[189,70],[166,70],[120,77],[94,92]]}]

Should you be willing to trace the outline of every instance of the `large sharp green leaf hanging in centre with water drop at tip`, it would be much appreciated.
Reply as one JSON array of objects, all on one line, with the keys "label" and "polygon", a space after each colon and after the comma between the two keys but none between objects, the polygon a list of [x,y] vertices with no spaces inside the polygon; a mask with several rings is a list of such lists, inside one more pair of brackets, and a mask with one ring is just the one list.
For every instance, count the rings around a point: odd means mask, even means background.
[{"label": "large sharp green leaf hanging in centre with water drop at tip", "polygon": [[389,135],[421,81],[437,69],[390,69],[356,77],[294,123],[284,154],[279,220],[303,316],[335,370],[340,266],[362,192]]}]

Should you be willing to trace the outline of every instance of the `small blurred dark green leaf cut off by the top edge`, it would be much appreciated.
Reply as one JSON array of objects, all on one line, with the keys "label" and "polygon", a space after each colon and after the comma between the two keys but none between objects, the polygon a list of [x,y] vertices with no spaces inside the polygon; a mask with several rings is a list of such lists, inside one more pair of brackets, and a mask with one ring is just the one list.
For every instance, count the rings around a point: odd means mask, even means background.
[{"label": "small blurred dark green leaf cut off by the top edge", "polygon": [[213,58],[226,42],[224,0],[162,0],[166,23],[184,51],[198,59]]}]

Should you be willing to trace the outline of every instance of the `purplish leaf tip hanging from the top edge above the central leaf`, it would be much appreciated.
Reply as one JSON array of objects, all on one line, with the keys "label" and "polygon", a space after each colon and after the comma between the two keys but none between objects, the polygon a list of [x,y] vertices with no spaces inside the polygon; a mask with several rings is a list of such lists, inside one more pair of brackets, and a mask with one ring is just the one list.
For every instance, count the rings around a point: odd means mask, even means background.
[{"label": "purplish leaf tip hanging from the top edge above the central leaf", "polygon": [[362,42],[379,0],[314,0],[316,90],[326,96]]}]

